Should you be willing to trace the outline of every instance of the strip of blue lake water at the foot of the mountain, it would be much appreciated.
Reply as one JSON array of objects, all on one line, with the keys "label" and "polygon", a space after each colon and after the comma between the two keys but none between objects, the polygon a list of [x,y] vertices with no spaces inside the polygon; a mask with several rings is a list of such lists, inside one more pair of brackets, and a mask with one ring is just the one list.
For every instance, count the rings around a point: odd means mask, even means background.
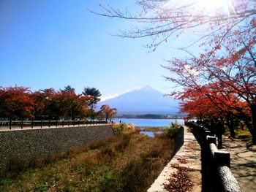
[{"label": "strip of blue lake water at the foot of the mountain", "polygon": [[178,123],[184,125],[183,119],[132,119],[132,118],[116,118],[113,120],[115,123],[121,122],[124,123],[133,123],[135,126],[148,126],[148,127],[165,127],[169,126],[171,123]]}]

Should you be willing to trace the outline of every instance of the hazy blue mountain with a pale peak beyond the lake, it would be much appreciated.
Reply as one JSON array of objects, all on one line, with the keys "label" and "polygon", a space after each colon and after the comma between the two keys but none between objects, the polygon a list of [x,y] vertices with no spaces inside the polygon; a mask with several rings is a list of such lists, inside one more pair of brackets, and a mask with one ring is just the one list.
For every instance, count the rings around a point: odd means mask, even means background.
[{"label": "hazy blue mountain with a pale peak beyond the lake", "polygon": [[177,100],[171,96],[164,96],[164,93],[148,85],[132,89],[112,99],[100,101],[97,106],[100,107],[103,104],[116,107],[118,115],[175,115],[179,107]]}]

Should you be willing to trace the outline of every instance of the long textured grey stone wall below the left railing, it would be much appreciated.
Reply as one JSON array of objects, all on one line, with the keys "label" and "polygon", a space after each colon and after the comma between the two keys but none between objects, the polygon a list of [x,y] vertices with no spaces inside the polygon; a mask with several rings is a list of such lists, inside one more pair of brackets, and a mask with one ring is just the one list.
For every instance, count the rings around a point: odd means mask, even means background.
[{"label": "long textured grey stone wall below the left railing", "polygon": [[0,169],[12,158],[31,160],[113,137],[110,125],[0,131]]}]

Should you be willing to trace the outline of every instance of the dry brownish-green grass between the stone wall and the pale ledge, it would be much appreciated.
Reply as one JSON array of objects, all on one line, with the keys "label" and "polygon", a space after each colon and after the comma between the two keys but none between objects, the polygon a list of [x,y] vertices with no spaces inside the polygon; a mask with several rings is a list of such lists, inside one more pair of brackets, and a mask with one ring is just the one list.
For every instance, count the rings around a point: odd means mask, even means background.
[{"label": "dry brownish-green grass between the stone wall and the pale ledge", "polygon": [[146,191],[170,161],[174,141],[125,132],[5,174],[0,191]]}]

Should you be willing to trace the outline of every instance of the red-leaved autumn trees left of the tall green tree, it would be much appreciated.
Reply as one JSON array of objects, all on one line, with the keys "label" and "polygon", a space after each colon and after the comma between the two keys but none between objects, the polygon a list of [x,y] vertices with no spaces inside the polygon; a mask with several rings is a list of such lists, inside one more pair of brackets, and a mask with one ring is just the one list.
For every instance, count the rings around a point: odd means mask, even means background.
[{"label": "red-leaved autumn trees left of the tall green tree", "polygon": [[0,88],[0,118],[56,119],[86,118],[89,97],[75,89],[55,91],[53,88],[34,91],[25,87]]}]

